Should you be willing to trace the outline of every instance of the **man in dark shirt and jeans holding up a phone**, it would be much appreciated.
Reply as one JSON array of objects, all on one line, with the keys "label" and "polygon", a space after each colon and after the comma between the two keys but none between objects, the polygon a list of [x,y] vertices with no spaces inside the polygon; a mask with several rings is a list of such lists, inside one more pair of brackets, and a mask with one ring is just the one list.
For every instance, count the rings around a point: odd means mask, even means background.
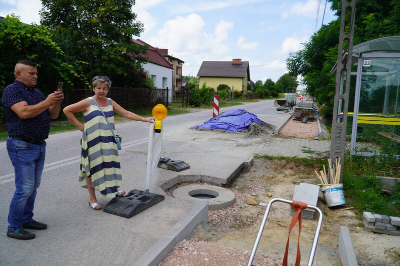
[{"label": "man in dark shirt and jeans holding up a phone", "polygon": [[64,95],[58,90],[45,97],[36,89],[37,68],[29,60],[17,61],[14,75],[14,83],[6,86],[2,95],[8,133],[6,147],[15,173],[7,237],[27,240],[35,234],[25,228],[47,228],[33,220],[33,206],[44,166],[49,118],[58,117]]}]

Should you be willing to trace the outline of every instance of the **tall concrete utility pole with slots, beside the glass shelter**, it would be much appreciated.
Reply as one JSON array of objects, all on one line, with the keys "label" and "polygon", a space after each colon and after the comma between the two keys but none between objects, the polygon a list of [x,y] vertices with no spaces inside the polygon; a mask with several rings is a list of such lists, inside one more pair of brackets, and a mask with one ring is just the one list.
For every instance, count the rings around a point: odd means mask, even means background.
[{"label": "tall concrete utility pole with slots, beside the glass shelter", "polygon": [[[349,12],[349,21],[346,23],[346,12]],[[353,35],[354,35],[354,20],[355,20],[355,0],[341,1],[340,15],[340,35],[339,48],[337,51],[336,65],[336,87],[333,102],[333,119],[332,132],[330,138],[330,155],[329,158],[335,162],[336,158],[340,158],[340,164],[344,163],[344,149],[346,142],[347,128],[347,110],[348,110],[348,95],[350,90],[350,75],[351,75],[351,55],[353,50]],[[345,32],[347,28],[348,32]],[[347,52],[343,59],[343,42],[347,41]],[[343,90],[344,86],[344,90]],[[329,183],[331,182],[329,177]],[[343,167],[340,168],[340,183],[343,178]]]}]

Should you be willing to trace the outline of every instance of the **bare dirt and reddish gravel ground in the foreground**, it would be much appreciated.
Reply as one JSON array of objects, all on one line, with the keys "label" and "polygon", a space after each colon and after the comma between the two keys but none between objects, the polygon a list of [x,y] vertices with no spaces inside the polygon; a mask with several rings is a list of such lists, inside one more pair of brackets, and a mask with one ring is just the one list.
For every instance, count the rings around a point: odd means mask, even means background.
[{"label": "bare dirt and reddish gravel ground in the foreground", "polygon": [[[314,122],[316,124],[316,122]],[[288,123],[292,125],[293,123]],[[300,122],[300,124],[302,124]],[[307,123],[308,124],[308,123]],[[304,124],[304,125],[307,125]],[[312,126],[312,124],[308,124]],[[291,128],[296,131],[297,124]],[[298,128],[298,127],[297,127]],[[298,137],[305,129],[298,132]],[[302,136],[304,137],[304,136]],[[249,172],[241,173],[230,186],[235,196],[232,207],[208,211],[208,223],[199,224],[189,237],[175,245],[159,266],[245,266],[251,253],[266,207],[247,204],[248,198],[268,203],[272,198],[292,199],[294,186],[317,184],[313,167],[297,165],[285,160],[254,159]],[[179,186],[186,185],[181,184]],[[372,233],[359,225],[355,209],[333,210],[319,193],[317,207],[323,222],[314,257],[314,266],[340,266],[337,251],[339,228],[349,228],[354,251],[360,266],[400,265],[400,239],[396,236]],[[337,208],[345,208],[341,206]],[[337,209],[336,208],[336,209]],[[314,220],[302,219],[300,236],[301,265],[306,265],[315,234]],[[256,266],[281,265],[291,221],[290,207],[274,203],[268,214],[261,241],[253,261]],[[290,234],[289,265],[294,264],[298,226]]]}]

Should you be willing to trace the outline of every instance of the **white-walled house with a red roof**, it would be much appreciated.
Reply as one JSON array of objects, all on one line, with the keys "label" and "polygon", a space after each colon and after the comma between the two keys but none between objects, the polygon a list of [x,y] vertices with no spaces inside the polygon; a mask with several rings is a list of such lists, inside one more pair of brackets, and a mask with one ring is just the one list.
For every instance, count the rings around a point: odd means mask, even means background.
[{"label": "white-walled house with a red roof", "polygon": [[158,51],[157,48],[145,43],[140,39],[132,39],[134,43],[140,45],[147,45],[148,50],[145,54],[148,58],[148,62],[142,66],[144,70],[148,72],[151,79],[154,81],[154,85],[157,88],[173,88],[173,66],[170,64]]}]

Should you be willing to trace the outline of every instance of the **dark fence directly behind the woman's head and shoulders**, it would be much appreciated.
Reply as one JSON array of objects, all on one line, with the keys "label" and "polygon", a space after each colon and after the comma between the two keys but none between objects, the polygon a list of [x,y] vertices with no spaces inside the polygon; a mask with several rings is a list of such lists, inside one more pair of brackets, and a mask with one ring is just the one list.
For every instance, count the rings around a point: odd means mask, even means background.
[{"label": "dark fence directly behind the woman's head and shoulders", "polygon": [[[64,102],[69,105],[90,97],[94,93],[89,89],[74,89],[64,94]],[[168,89],[111,87],[107,97],[117,102],[126,110],[153,107],[158,103],[168,107]]]}]

